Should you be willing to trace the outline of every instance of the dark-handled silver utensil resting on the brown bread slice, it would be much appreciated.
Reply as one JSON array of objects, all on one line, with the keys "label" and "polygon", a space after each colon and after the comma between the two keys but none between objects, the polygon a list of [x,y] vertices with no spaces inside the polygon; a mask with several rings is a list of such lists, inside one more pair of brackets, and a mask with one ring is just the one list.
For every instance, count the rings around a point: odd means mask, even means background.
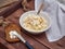
[{"label": "dark-handled silver utensil resting on the brown bread slice", "polygon": [[25,39],[22,37],[22,35],[17,34],[16,30],[11,30],[11,34],[12,34],[12,36],[16,36],[17,38],[20,38],[21,41],[23,41],[28,49],[34,49],[34,47],[32,47],[27,40],[25,40]]}]

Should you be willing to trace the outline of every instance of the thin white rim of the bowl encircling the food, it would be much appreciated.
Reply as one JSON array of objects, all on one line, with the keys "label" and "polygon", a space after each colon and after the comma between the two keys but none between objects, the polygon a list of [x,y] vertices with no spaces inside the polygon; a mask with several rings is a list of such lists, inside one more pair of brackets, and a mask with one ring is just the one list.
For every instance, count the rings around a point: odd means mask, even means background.
[{"label": "thin white rim of the bowl encircling the food", "polygon": [[31,34],[39,34],[39,33],[43,33],[43,32],[46,32],[46,30],[48,30],[50,27],[51,27],[51,24],[52,24],[52,22],[51,22],[51,17],[49,17],[49,14],[47,13],[47,12],[40,12],[40,13],[43,13],[43,14],[46,14],[47,16],[48,16],[48,19],[50,20],[50,24],[49,24],[49,26],[46,28],[46,29],[43,29],[43,30],[29,30],[29,29],[27,29],[27,28],[25,28],[23,25],[22,25],[22,17],[25,15],[25,14],[27,14],[27,13],[30,13],[30,12],[37,12],[37,11],[28,11],[28,12],[25,12],[25,13],[23,13],[22,15],[21,15],[21,17],[20,17],[20,25],[21,25],[21,27],[22,28],[24,28],[25,30],[27,30],[27,32],[30,32]]}]

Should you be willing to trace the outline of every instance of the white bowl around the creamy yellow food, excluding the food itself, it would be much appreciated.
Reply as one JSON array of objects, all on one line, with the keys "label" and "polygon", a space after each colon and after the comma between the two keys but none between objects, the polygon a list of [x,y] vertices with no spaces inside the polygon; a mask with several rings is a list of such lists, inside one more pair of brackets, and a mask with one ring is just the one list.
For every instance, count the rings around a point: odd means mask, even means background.
[{"label": "white bowl around the creamy yellow food, excluding the food itself", "polygon": [[48,21],[48,27],[44,28],[44,29],[42,29],[42,30],[38,30],[38,32],[29,30],[29,29],[25,28],[25,27],[23,26],[23,22],[24,22],[24,19],[25,19],[26,16],[28,16],[28,14],[37,14],[37,12],[36,12],[36,11],[28,11],[28,12],[25,12],[24,14],[22,14],[21,17],[20,17],[20,25],[21,25],[25,30],[29,32],[30,34],[41,34],[41,33],[46,32],[47,29],[49,29],[49,28],[51,27],[51,17],[48,15],[48,13],[46,13],[46,12],[40,12],[40,15]]}]

